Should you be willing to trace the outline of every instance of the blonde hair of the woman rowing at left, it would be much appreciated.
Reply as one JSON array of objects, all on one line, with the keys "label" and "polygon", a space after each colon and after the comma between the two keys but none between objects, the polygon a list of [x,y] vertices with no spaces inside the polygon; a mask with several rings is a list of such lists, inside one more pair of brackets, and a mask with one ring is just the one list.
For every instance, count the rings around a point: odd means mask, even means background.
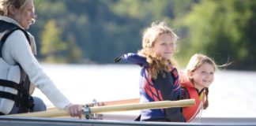
[{"label": "blonde hair of the woman rowing at left", "polygon": [[16,9],[23,9],[26,5],[28,0],[1,0],[0,1],[0,15],[1,16],[8,16],[9,14],[9,7],[13,6]]}]

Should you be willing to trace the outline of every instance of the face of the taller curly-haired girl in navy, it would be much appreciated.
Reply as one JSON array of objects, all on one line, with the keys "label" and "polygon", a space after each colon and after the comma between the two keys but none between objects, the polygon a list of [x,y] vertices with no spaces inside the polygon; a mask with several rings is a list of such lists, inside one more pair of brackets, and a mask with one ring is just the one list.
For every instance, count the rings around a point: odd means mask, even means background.
[{"label": "face of the taller curly-haired girl in navy", "polygon": [[162,34],[158,38],[156,38],[152,50],[156,54],[159,54],[160,57],[170,59],[175,51],[175,42],[172,39],[171,35],[168,35],[167,33]]}]

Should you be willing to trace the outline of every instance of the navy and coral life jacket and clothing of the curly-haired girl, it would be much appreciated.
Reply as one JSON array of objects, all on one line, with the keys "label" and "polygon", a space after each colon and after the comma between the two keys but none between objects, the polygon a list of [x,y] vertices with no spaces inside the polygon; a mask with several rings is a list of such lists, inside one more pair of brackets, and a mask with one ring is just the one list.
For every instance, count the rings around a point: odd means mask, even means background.
[{"label": "navy and coral life jacket and clothing of the curly-haired girl", "polygon": [[[140,65],[140,96],[141,102],[156,102],[164,100],[179,100],[181,85],[179,83],[179,74],[177,70],[170,65],[171,72],[164,72],[165,77],[158,75],[156,80],[152,80],[149,75],[149,63],[145,57],[137,54],[123,54],[115,59],[119,62],[121,59],[130,63]],[[167,119],[168,121],[184,121],[181,108],[168,109],[143,109],[141,110],[140,120]]]}]

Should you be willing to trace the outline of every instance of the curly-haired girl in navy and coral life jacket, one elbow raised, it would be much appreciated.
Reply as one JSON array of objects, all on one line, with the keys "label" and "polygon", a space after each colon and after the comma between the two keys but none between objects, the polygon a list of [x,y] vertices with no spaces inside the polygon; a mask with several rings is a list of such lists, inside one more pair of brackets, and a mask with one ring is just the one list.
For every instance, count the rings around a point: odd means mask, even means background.
[{"label": "curly-haired girl in navy and coral life jacket, one elbow raised", "polygon": [[[172,56],[178,36],[164,22],[152,23],[145,30],[142,49],[138,54],[125,54],[117,58],[141,65],[141,102],[178,100],[180,95],[179,75]],[[184,121],[181,108],[143,109],[140,120]]]}]

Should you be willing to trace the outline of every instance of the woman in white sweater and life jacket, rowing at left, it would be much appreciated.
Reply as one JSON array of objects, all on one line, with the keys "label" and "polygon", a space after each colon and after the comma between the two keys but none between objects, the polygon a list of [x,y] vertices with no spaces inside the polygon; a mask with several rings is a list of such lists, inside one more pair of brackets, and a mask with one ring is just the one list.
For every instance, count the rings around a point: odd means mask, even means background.
[{"label": "woman in white sweater and life jacket, rowing at left", "polygon": [[35,41],[25,30],[35,17],[32,0],[0,1],[0,114],[38,111],[36,108],[45,106],[39,98],[31,97],[38,87],[58,109],[81,117],[81,105],[71,103],[58,91],[34,56]]}]

